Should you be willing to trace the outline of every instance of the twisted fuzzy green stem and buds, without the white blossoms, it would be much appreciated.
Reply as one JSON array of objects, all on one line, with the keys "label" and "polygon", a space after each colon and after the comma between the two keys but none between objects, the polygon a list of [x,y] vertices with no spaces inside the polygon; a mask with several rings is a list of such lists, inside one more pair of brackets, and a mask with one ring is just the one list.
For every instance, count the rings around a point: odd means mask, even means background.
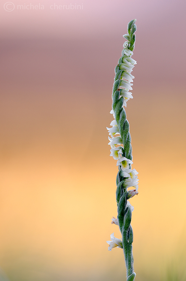
[{"label": "twisted fuzzy green stem and buds, without the white blossoms", "polygon": [[[128,34],[125,34],[125,38],[129,41],[128,50],[133,51],[135,44],[135,34],[136,25],[135,20],[132,20],[128,24]],[[126,50],[126,47],[125,49]],[[129,54],[130,54],[129,51]],[[128,52],[128,51],[127,51]],[[125,51],[125,53],[127,53]],[[122,51],[123,56],[119,59],[118,65],[115,68],[115,82],[113,86],[113,103],[112,108],[115,115],[115,120],[117,122],[120,136],[123,142],[123,157],[126,157],[129,160],[132,160],[132,146],[131,146],[131,137],[129,132],[129,122],[126,119],[126,112],[123,108],[124,97],[121,96],[122,91],[125,91],[124,88],[120,88],[120,84],[125,80],[122,79],[122,73],[124,72],[126,75],[129,75],[130,72],[125,71],[126,61],[130,60],[130,55],[126,55],[124,51]],[[126,68],[127,69],[127,68]],[[122,81],[122,82],[121,82]],[[125,80],[126,81],[126,80]],[[123,85],[123,84],[121,84]],[[131,223],[132,211],[127,204],[127,188],[125,186],[125,181],[128,179],[122,175],[122,170],[119,166],[119,172],[116,178],[116,201],[118,204],[118,222],[120,231],[122,234],[122,244],[123,251],[125,256],[125,264],[126,264],[126,272],[127,272],[127,281],[133,281],[135,279],[134,272],[134,259],[132,253],[132,242],[133,242],[133,230]],[[130,166],[131,169],[131,166]]]}]

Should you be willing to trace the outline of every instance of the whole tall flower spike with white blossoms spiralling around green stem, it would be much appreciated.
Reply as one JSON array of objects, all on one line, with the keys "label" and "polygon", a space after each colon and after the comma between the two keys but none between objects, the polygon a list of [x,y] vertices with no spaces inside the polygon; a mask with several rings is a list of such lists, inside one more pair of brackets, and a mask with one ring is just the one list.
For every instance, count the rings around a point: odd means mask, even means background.
[{"label": "whole tall flower spike with white blossoms spiralling around green stem", "polygon": [[[124,49],[121,53],[122,56],[118,61],[118,65],[115,67],[115,79],[112,91],[113,102],[110,113],[113,114],[114,120],[110,123],[110,126],[112,127],[107,128],[110,135],[110,156],[113,156],[113,158],[117,160],[116,165],[119,167],[116,178],[118,216],[117,219],[112,219],[112,223],[118,224],[120,227],[122,247],[119,243],[120,241],[114,237],[114,234],[111,234],[111,239],[115,242],[107,242],[110,244],[109,250],[113,247],[123,248],[127,269],[127,281],[133,281],[136,275],[133,267],[132,254],[133,230],[130,225],[134,208],[127,200],[138,194],[138,172],[135,169],[131,169],[131,164],[133,164],[131,137],[129,132],[129,122],[126,119],[126,112],[124,109],[124,106],[126,107],[126,102],[130,98],[133,98],[129,91],[132,90],[131,86],[133,84],[131,84],[131,82],[133,82],[134,79],[131,72],[136,64],[136,61],[131,58],[135,45],[135,22],[136,19],[128,23],[128,34],[123,35],[127,41],[123,45]],[[127,190],[129,187],[134,187],[134,190]]]}]

